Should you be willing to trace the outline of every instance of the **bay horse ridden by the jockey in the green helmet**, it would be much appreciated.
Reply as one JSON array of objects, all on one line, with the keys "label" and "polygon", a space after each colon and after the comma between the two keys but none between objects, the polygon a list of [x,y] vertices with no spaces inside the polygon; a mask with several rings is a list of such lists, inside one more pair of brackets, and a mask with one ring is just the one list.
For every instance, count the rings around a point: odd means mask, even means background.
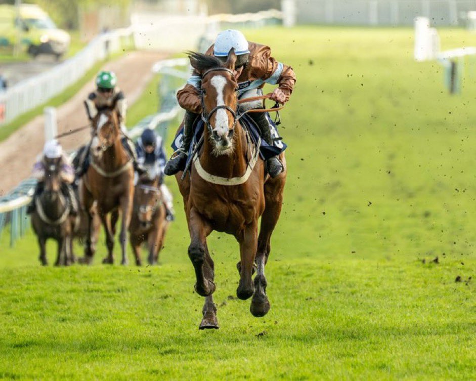
[{"label": "bay horse ridden by the jockey in the green helmet", "polygon": [[103,263],[113,264],[113,247],[119,210],[122,214],[119,242],[122,265],[127,265],[127,229],[131,221],[134,195],[134,168],[121,143],[120,115],[110,108],[99,110],[93,118],[94,137],[90,149],[90,166],[82,176],[79,196],[81,206],[88,215],[88,236],[86,238],[83,263],[90,264],[94,256],[92,237],[94,234],[91,208],[96,201],[99,218],[106,233],[107,257]]}]

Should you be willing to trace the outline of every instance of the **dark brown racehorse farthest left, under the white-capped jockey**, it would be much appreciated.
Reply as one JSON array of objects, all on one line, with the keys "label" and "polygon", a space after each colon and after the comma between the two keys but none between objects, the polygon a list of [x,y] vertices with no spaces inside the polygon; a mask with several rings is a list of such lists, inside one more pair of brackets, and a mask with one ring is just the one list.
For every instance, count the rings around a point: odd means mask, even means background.
[{"label": "dark brown racehorse farthest left, under the white-capped jockey", "polygon": [[39,261],[43,266],[48,265],[45,245],[48,238],[53,238],[58,242],[55,266],[68,266],[75,262],[70,248],[76,219],[70,216],[70,201],[61,191],[60,159],[44,160],[44,190],[36,197],[35,211],[31,215],[31,225],[40,248]]}]

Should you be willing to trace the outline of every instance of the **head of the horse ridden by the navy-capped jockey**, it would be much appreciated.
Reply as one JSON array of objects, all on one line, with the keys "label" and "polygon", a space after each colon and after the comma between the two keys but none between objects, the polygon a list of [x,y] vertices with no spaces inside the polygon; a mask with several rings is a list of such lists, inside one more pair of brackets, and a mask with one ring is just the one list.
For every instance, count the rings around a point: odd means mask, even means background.
[{"label": "head of the horse ridden by the navy-capped jockey", "polygon": [[152,224],[152,219],[162,200],[158,178],[149,180],[141,177],[140,183],[136,187],[135,199],[138,205],[139,222],[143,228],[148,228]]}]

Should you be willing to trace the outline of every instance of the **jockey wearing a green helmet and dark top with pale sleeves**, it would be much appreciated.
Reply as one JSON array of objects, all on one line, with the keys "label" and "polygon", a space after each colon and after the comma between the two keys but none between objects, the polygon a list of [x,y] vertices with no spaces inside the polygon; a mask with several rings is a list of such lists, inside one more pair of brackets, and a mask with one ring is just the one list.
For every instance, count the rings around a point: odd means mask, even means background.
[{"label": "jockey wearing a green helmet and dark top with pale sleeves", "polygon": [[[96,87],[97,89],[92,92],[88,99],[84,101],[84,106],[86,107],[86,114],[90,121],[96,116],[96,114],[104,109],[110,108],[115,104],[114,109],[117,112],[119,117],[119,122],[121,124],[121,131],[124,135],[127,133],[127,128],[125,126],[125,116],[127,112],[127,100],[124,97],[124,93],[116,87],[117,77],[116,74],[112,71],[101,71],[96,77]],[[91,129],[91,135],[94,136],[96,133],[95,130]],[[134,169],[136,171],[142,172],[141,168],[137,166],[137,154],[134,148],[134,144],[124,136],[121,139],[122,145],[128,152],[128,154],[133,158]],[[78,151],[78,164],[77,164],[77,175],[81,177],[88,170],[88,160],[86,157],[89,155],[90,145],[81,147]]]}]

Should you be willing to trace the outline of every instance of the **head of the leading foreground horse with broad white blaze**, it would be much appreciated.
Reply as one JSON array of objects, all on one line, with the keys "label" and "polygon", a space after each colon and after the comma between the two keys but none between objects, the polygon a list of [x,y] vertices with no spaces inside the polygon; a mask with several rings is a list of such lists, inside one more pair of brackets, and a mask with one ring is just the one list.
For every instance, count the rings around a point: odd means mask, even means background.
[{"label": "head of the leading foreground horse with broad white blaze", "polygon": [[201,53],[189,54],[193,68],[203,73],[200,89],[202,118],[213,154],[230,155],[234,149],[234,132],[237,124],[237,91],[235,79],[236,55],[233,49],[225,63],[217,57]]}]

